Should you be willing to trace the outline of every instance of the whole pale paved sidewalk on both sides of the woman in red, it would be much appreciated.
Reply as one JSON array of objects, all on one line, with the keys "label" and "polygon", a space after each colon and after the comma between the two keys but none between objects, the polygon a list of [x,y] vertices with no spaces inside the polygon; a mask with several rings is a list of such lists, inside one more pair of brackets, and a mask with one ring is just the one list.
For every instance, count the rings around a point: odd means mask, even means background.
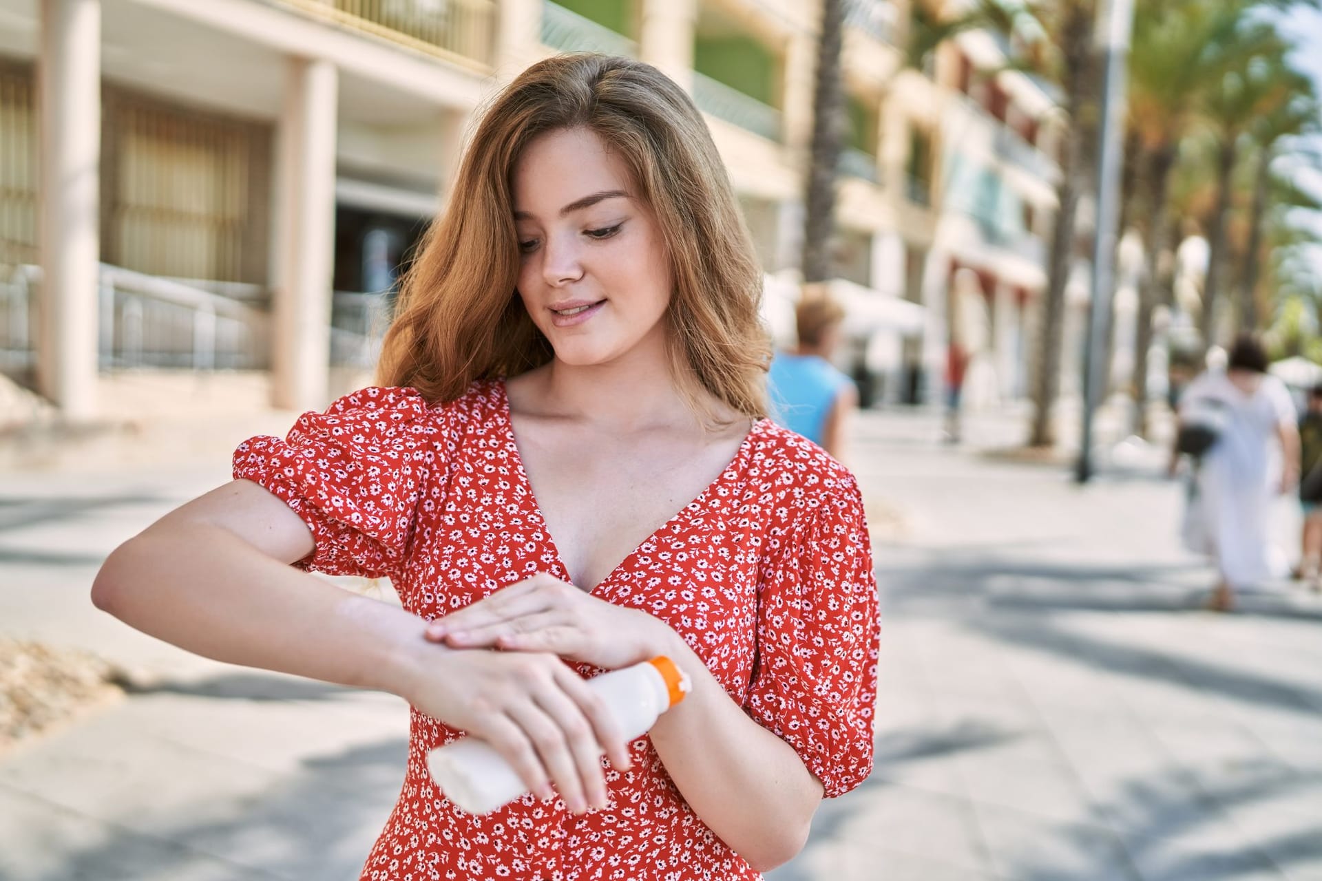
[{"label": "whole pale paved sidewalk on both sides of the woman in red", "polygon": [[[1322,878],[1322,602],[1190,612],[1210,573],[1150,450],[1079,489],[937,428],[859,420],[855,470],[903,514],[876,547],[878,769],[771,880]],[[0,634],[153,683],[0,758],[4,881],[357,877],[403,777],[402,701],[193,658],[87,601],[119,540],[225,478],[0,481]]]}]

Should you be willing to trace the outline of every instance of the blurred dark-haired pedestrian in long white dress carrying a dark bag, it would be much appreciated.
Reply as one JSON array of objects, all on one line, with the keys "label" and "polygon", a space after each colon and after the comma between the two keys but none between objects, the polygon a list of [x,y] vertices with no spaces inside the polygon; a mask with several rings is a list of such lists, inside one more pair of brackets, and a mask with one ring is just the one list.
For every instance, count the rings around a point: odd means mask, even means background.
[{"label": "blurred dark-haired pedestrian in long white dress carrying a dark bag", "polygon": [[[1300,433],[1290,392],[1266,367],[1261,343],[1241,335],[1225,370],[1200,374],[1179,403],[1171,472],[1181,444],[1191,429],[1202,429],[1206,449],[1196,457],[1190,516],[1200,524],[1198,549],[1216,563],[1218,581],[1206,608],[1218,612],[1233,608],[1236,589],[1288,572],[1285,555],[1272,542],[1272,501],[1298,479]],[[1215,424],[1195,425],[1203,412],[1219,413]]]}]

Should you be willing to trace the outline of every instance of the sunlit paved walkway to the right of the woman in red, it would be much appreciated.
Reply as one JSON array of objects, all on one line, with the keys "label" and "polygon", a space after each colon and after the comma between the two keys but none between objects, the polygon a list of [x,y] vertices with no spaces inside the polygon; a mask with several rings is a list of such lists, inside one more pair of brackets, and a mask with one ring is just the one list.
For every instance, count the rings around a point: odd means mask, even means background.
[{"label": "sunlit paved walkway to the right of the woman in red", "polygon": [[876,770],[772,881],[1322,878],[1322,601],[1196,610],[1211,573],[1159,450],[1103,450],[1080,489],[924,415],[859,435],[904,515],[875,548]]}]

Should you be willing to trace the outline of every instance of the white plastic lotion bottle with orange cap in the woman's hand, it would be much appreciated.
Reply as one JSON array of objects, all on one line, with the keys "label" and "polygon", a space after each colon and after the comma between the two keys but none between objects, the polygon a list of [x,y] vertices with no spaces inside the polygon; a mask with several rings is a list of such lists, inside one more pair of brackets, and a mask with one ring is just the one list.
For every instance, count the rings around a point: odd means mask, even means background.
[{"label": "white plastic lotion bottle with orange cap in the woman's hand", "polygon": [[[683,700],[691,683],[662,655],[594,676],[587,686],[605,700],[624,740],[632,741]],[[527,791],[509,762],[476,737],[438,746],[427,767],[446,798],[469,814],[490,814]]]}]

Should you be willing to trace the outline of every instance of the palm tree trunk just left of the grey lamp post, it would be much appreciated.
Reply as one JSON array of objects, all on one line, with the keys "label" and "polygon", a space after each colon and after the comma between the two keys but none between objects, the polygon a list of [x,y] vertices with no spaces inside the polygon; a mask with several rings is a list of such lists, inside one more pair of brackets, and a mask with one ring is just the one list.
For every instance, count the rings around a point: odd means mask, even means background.
[{"label": "palm tree trunk just left of the grey lamp post", "polygon": [[1030,446],[1051,446],[1055,431],[1051,408],[1060,390],[1060,345],[1064,333],[1066,283],[1075,252],[1075,215],[1079,213],[1079,177],[1084,169],[1084,108],[1095,100],[1096,58],[1092,49],[1092,16],[1089,9],[1072,4],[1069,18],[1062,33],[1066,54],[1066,110],[1069,127],[1066,129],[1066,148],[1056,185],[1058,210],[1051,236],[1051,259],[1047,291],[1042,302],[1042,322],[1038,328],[1036,375],[1032,378],[1032,429]]}]

